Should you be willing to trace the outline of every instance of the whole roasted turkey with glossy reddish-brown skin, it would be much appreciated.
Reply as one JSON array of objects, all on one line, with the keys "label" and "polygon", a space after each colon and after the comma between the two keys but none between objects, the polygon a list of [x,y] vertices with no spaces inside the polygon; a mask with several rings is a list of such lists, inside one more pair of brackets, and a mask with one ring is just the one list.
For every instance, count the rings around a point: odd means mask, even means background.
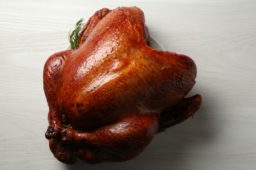
[{"label": "whole roasted turkey with glossy reddish-brown skin", "polygon": [[83,29],[79,48],[53,54],[43,83],[49,105],[49,139],[64,163],[125,161],[154,135],[193,116],[201,96],[192,89],[192,59],[147,45],[137,7],[102,9]]}]

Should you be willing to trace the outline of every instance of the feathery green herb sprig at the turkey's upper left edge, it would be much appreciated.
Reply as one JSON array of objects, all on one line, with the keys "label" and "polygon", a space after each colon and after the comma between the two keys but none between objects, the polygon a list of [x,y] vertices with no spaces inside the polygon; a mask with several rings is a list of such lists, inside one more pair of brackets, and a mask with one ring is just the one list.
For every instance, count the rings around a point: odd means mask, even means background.
[{"label": "feathery green herb sprig at the turkey's upper left edge", "polygon": [[81,18],[75,24],[75,29],[68,33],[68,40],[70,41],[71,49],[76,49],[77,48],[77,45],[78,45],[78,42],[79,42],[79,37],[81,35],[82,27],[83,27],[83,18]]}]

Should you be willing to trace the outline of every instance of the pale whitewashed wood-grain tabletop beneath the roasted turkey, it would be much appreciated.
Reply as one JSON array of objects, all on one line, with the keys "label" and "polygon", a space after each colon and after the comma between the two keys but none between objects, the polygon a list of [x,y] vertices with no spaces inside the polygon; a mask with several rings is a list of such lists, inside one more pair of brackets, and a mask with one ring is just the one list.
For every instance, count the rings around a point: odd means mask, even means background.
[{"label": "pale whitewashed wood-grain tabletop beneath the roasted turkey", "polygon": [[[194,118],[123,163],[69,166],[44,137],[46,59],[102,7],[137,6],[152,37],[196,61]],[[256,169],[256,1],[0,1],[0,169]]]}]

